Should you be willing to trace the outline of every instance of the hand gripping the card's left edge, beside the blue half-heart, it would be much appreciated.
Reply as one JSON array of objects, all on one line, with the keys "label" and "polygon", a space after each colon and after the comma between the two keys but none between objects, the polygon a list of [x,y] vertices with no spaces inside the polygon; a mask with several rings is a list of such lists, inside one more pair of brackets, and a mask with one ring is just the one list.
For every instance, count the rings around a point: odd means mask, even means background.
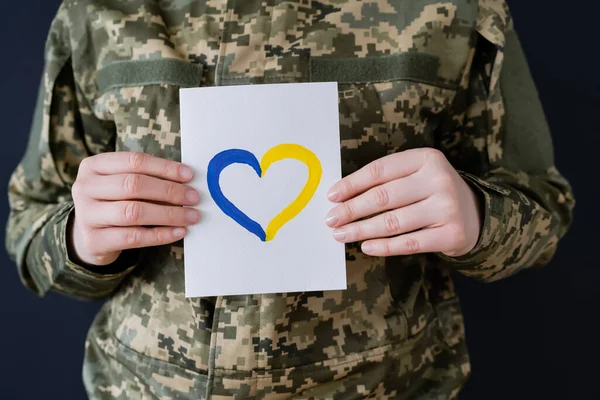
[{"label": "hand gripping the card's left edge, beside the blue half-heart", "polygon": [[[75,217],[67,237],[79,260],[108,265],[126,249],[180,240],[200,219],[197,191],[183,185],[193,172],[144,153],[115,152],[81,162],[72,195]],[[147,227],[152,226],[152,228]]]}]

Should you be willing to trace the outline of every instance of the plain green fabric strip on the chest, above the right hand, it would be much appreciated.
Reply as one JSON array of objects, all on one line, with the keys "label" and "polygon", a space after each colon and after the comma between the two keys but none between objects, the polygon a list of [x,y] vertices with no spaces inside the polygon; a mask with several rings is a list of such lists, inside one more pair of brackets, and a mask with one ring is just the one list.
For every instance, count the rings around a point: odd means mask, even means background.
[{"label": "plain green fabric strip on the chest, above the right hand", "polygon": [[439,59],[424,53],[399,53],[365,58],[315,57],[310,60],[313,82],[361,83],[414,80],[437,84]]}]

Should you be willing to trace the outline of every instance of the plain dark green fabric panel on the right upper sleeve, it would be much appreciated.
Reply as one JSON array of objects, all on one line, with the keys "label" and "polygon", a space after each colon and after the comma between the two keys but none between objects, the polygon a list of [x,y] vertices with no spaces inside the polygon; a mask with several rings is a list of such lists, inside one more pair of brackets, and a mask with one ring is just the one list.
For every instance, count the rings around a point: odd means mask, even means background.
[{"label": "plain dark green fabric panel on the right upper sleeve", "polygon": [[506,109],[503,159],[507,168],[542,173],[554,165],[550,128],[523,48],[514,31],[506,33],[500,88]]}]

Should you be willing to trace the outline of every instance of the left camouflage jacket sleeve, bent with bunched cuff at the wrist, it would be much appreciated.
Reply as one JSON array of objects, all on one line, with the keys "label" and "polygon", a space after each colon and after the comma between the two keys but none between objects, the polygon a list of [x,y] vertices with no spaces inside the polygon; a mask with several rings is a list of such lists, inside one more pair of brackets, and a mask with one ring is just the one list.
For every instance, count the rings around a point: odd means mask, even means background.
[{"label": "left camouflage jacket sleeve, bent with bunched cuff at the wrist", "polygon": [[[78,166],[96,152],[112,151],[114,130],[94,117],[75,83],[67,12],[58,11],[46,42],[44,72],[25,155],[8,189],[6,248],[23,284],[40,296],[50,290],[97,299],[110,294],[134,267],[122,257],[112,266],[86,268],[69,256],[67,224]],[[87,141],[84,132],[102,140]]]}]

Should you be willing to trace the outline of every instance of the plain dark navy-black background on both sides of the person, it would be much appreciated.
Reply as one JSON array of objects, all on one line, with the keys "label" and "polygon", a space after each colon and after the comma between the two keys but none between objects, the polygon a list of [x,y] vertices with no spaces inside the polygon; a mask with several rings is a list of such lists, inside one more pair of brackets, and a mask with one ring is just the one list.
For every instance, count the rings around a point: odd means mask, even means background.
[{"label": "plain dark navy-black background on both sides of the person", "polygon": [[[483,284],[457,277],[473,375],[462,399],[600,399],[600,6],[509,2],[553,130],[556,165],[577,205],[571,231],[545,268]],[[29,132],[43,47],[58,0],[4,1],[0,180],[7,183]],[[2,222],[8,214],[2,197]],[[4,230],[2,230],[4,234]],[[39,299],[0,256],[0,397],[85,398],[83,345],[99,303]]]}]

